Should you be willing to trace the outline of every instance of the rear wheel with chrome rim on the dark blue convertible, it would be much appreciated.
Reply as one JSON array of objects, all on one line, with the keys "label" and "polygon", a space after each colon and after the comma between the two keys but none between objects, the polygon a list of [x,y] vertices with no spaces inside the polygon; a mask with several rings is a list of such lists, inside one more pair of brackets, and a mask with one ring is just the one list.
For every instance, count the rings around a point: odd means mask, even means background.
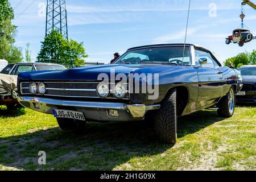
[{"label": "rear wheel with chrome rim on the dark blue convertible", "polygon": [[218,102],[218,115],[224,118],[230,118],[234,114],[234,107],[236,105],[236,91],[234,87],[229,90],[228,95],[222,97],[221,100]]}]

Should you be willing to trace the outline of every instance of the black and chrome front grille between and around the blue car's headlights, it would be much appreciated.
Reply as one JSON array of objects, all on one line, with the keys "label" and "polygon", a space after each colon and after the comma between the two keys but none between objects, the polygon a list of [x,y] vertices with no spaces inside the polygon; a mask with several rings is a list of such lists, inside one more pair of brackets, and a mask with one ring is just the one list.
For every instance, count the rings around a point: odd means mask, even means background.
[{"label": "black and chrome front grille between and around the blue car's headlights", "polygon": [[[70,97],[70,98],[100,98],[97,94],[97,86],[100,82],[44,82],[46,93],[44,96],[52,97]],[[39,82],[36,82],[39,84]],[[30,95],[29,82],[20,83],[20,93]],[[127,93],[124,100],[129,100],[129,85],[127,84]],[[110,94],[109,99],[115,99]]]}]

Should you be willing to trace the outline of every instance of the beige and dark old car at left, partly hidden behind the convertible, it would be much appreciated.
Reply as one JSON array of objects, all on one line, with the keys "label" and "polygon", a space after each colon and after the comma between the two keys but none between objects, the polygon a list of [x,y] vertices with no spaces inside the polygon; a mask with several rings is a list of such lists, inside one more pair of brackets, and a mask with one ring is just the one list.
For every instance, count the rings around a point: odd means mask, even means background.
[{"label": "beige and dark old car at left, partly hidden behind the convertible", "polygon": [[65,70],[63,65],[48,63],[15,63],[9,64],[0,72],[0,105],[12,109],[17,106],[17,78],[19,73]]}]

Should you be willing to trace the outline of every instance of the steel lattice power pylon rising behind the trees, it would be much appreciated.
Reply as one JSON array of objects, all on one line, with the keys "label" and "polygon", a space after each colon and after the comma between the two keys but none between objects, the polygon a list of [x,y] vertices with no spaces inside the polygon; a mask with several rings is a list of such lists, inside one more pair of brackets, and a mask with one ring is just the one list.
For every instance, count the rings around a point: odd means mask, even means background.
[{"label": "steel lattice power pylon rising behind the trees", "polygon": [[59,30],[68,39],[68,20],[65,0],[47,0],[46,35],[52,29]]}]

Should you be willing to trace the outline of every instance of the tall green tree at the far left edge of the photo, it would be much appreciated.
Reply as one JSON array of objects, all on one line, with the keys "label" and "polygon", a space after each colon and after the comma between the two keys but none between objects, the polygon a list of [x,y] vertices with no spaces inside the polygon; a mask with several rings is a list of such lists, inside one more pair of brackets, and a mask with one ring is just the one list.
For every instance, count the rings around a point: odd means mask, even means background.
[{"label": "tall green tree at the far left edge of the photo", "polygon": [[0,30],[5,35],[0,37],[0,59],[6,59],[9,63],[22,61],[22,49],[14,46],[16,26],[11,23],[14,19],[13,8],[7,0],[0,0]]}]

